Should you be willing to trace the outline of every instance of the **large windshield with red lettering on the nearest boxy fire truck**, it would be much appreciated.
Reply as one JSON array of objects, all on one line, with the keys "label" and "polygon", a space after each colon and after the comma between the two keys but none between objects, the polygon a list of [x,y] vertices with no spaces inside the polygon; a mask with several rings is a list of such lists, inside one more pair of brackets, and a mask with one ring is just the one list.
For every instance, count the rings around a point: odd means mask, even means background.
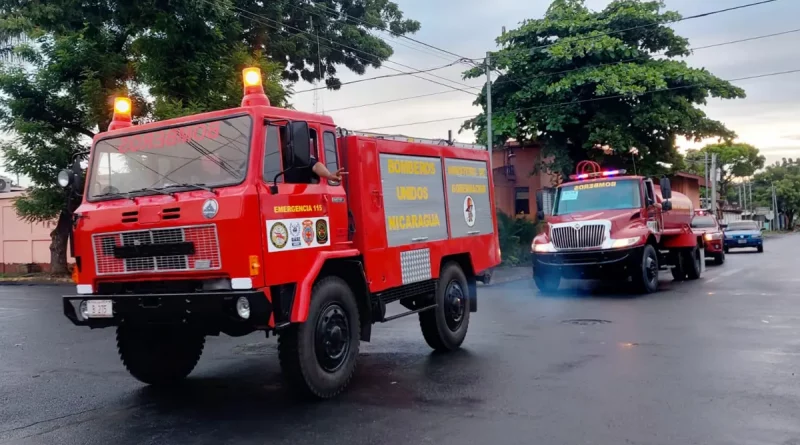
[{"label": "large windshield with red lettering on the nearest boxy fire truck", "polygon": [[250,116],[237,116],[102,139],[92,152],[88,198],[241,183],[251,129]]}]

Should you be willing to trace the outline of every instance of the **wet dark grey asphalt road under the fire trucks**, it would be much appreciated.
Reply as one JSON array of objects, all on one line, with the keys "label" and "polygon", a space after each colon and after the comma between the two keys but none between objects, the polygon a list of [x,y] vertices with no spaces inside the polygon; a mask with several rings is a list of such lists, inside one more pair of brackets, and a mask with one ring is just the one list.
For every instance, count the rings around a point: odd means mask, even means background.
[{"label": "wet dark grey asphalt road under the fire trucks", "polygon": [[765,250],[646,297],[481,288],[462,351],[432,354],[413,317],[377,326],[324,403],[292,399],[256,334],[153,390],[113,331],[68,323],[63,288],[0,287],[0,443],[797,445],[800,236]]}]

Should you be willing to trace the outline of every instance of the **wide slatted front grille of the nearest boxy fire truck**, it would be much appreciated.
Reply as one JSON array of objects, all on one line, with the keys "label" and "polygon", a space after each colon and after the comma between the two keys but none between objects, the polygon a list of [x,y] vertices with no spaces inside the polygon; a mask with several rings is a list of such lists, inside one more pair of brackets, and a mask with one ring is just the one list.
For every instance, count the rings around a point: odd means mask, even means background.
[{"label": "wide slatted front grille of the nearest boxy fire truck", "polygon": [[[215,225],[132,230],[92,235],[98,275],[220,269],[219,238]],[[190,255],[116,258],[114,247],[191,242]]]}]

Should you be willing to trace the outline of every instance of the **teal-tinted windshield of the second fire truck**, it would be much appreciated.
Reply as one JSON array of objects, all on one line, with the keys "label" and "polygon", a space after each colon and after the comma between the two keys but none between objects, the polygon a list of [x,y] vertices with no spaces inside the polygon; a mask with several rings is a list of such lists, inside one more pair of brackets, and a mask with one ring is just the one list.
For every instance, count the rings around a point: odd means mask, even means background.
[{"label": "teal-tinted windshield of the second fire truck", "polygon": [[608,179],[558,188],[553,215],[641,207],[639,181]]}]

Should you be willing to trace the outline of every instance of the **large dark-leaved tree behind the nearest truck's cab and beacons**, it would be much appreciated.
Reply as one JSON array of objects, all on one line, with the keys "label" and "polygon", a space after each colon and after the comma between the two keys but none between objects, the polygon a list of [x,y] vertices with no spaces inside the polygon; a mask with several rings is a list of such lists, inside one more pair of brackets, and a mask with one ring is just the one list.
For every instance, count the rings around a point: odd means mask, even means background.
[{"label": "large dark-leaved tree behind the nearest truck's cab and beacons", "polygon": [[0,0],[0,11],[0,126],[14,136],[4,162],[34,184],[20,215],[58,218],[54,272],[66,270],[75,207],[56,174],[108,128],[114,96],[132,96],[140,122],[234,107],[241,69],[257,64],[273,105],[287,105],[301,78],[337,88],[338,67],[379,67],[392,48],[373,30],[419,29],[388,0]]}]

